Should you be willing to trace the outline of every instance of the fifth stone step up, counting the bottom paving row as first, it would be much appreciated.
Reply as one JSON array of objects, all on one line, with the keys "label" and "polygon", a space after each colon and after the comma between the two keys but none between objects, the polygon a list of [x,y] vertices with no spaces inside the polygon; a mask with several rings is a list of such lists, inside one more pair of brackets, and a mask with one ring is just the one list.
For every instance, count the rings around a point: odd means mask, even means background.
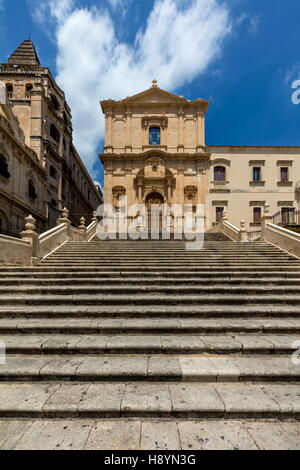
[{"label": "fifth stone step up, counting the bottom paving row as first", "polygon": [[0,334],[300,334],[297,318],[0,318]]}]

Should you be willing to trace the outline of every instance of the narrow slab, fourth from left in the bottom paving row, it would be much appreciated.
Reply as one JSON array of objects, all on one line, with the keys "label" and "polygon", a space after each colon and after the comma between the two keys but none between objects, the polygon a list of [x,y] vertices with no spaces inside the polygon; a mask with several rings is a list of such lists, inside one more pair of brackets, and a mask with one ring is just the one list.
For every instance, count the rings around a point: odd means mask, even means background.
[{"label": "narrow slab, fourth from left in the bottom paving row", "polygon": [[175,421],[142,421],[141,450],[180,450]]}]

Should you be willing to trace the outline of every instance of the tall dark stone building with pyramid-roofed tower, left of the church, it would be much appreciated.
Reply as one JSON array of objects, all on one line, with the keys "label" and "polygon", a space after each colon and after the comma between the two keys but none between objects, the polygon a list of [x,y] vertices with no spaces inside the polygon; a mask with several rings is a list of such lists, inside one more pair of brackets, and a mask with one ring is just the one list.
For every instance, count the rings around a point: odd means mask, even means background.
[{"label": "tall dark stone building with pyramid-roofed tower, left of the church", "polygon": [[[6,94],[6,101],[2,100],[2,104],[10,108],[16,118],[23,134],[22,145],[34,155],[43,175],[41,183],[40,177],[23,171],[19,184],[13,171],[13,157],[9,156],[10,152],[4,145],[2,154],[6,163],[2,165],[3,168],[7,165],[11,175],[7,179],[12,181],[14,189],[6,184],[1,190],[10,200],[10,207],[14,197],[24,201],[25,215],[28,215],[27,207],[36,216],[42,207],[43,219],[40,220],[41,226],[38,225],[41,230],[55,225],[64,206],[70,209],[74,225],[79,224],[82,216],[89,222],[92,212],[102,203],[101,190],[93,183],[73,145],[72,116],[65,94],[50,70],[41,66],[31,41],[24,41],[9,57],[8,63],[0,64],[0,81],[4,83]],[[4,144],[7,138],[3,135]],[[39,187],[41,184],[43,190]],[[2,219],[7,220],[7,231],[19,231],[14,211],[7,212],[2,204],[1,211]]]}]

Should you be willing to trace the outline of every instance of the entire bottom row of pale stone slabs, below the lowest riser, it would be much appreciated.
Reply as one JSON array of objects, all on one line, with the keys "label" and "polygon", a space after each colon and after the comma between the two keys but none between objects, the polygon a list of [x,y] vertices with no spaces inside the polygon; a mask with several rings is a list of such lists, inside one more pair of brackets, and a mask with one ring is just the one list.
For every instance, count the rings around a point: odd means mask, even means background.
[{"label": "entire bottom row of pale stone slabs, below the lowest riser", "polygon": [[[108,405],[110,407],[110,405]],[[147,404],[147,409],[148,409]],[[98,408],[98,405],[97,405]],[[109,408],[110,409],[110,408]],[[225,416],[226,417],[226,416]],[[300,423],[274,419],[121,418],[0,420],[1,450],[299,450]],[[194,453],[194,452],[193,452]],[[183,454],[183,455],[182,455]],[[150,454],[153,464],[158,456]],[[129,455],[124,458],[128,458]],[[110,464],[117,455],[109,454]],[[137,457],[134,457],[137,458]],[[157,460],[155,461],[155,458]],[[160,457],[162,458],[162,457]],[[172,459],[173,457],[170,456]],[[127,464],[127,460],[124,461]],[[134,461],[135,462],[135,461]],[[131,466],[135,463],[131,461]],[[176,462],[176,460],[175,460]],[[158,465],[158,463],[157,463]],[[123,465],[124,466],[124,465]]]}]

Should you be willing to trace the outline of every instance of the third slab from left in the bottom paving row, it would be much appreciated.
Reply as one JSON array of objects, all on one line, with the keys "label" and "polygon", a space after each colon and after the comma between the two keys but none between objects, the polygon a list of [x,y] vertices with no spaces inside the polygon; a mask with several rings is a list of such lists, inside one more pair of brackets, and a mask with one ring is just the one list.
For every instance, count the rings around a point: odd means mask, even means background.
[{"label": "third slab from left in the bottom paving row", "polygon": [[97,422],[85,443],[85,450],[139,450],[141,421],[106,420]]}]

